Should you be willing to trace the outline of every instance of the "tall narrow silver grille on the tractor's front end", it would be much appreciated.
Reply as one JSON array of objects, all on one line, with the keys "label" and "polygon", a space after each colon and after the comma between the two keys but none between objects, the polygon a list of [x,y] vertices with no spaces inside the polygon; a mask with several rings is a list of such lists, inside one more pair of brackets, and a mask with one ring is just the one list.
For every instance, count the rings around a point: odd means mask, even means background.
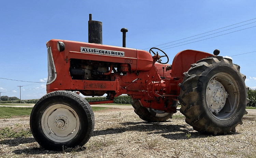
[{"label": "tall narrow silver grille on the tractor's front end", "polygon": [[48,47],[48,49],[47,49],[47,58],[48,58],[48,80],[47,80],[47,84],[51,84],[57,77],[51,47]]}]

